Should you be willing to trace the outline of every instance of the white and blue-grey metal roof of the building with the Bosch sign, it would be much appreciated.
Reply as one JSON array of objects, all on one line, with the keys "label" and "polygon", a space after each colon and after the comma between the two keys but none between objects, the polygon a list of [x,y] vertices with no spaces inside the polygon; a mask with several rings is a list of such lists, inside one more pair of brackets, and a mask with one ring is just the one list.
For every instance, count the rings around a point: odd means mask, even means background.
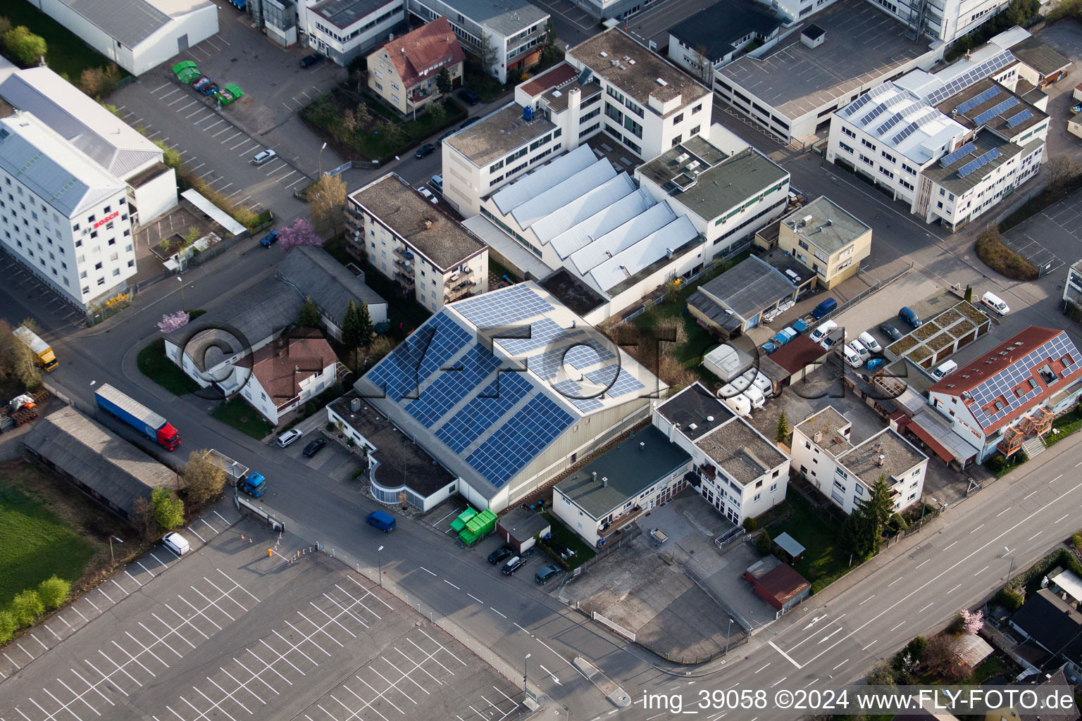
[{"label": "white and blue-grey metal roof of the building with the Bosch sign", "polygon": [[29,112],[0,120],[0,168],[66,217],[124,189],[123,182]]}]

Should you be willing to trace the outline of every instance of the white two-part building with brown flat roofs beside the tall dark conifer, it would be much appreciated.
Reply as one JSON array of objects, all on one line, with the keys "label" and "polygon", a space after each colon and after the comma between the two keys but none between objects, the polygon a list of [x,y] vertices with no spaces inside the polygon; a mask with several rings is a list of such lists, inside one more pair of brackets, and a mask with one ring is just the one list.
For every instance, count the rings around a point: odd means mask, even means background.
[{"label": "white two-part building with brown flat roofs beside the tall dark conifer", "polygon": [[831,406],[793,427],[793,467],[846,513],[852,513],[885,477],[894,510],[924,493],[928,457],[892,428],[854,443],[853,424]]}]

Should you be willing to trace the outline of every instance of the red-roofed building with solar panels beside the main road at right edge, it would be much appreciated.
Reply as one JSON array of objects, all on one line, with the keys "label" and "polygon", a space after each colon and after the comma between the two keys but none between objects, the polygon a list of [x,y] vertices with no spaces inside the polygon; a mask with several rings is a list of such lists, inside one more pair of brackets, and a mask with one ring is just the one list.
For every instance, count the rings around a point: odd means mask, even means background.
[{"label": "red-roofed building with solar panels beside the main road at right edge", "polygon": [[1052,428],[1082,393],[1082,353],[1067,333],[1031,325],[928,388],[928,403],[982,462]]}]

